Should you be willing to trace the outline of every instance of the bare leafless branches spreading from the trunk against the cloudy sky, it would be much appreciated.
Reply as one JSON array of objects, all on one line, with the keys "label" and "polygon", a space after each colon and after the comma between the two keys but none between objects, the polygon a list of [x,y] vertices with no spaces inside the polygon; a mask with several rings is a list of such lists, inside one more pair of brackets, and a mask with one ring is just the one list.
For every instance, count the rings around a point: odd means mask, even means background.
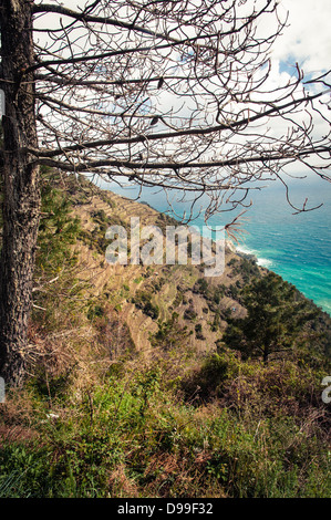
[{"label": "bare leafless branches spreading from the trunk against the cloudy sky", "polygon": [[[209,195],[206,215],[246,210],[266,180],[287,188],[296,164],[330,180],[330,73],[304,81],[296,64],[296,75],[275,86],[268,53],[287,24],[276,1],[32,10],[35,63],[21,87],[33,73],[34,162]],[[259,29],[267,19],[268,34]]]}]

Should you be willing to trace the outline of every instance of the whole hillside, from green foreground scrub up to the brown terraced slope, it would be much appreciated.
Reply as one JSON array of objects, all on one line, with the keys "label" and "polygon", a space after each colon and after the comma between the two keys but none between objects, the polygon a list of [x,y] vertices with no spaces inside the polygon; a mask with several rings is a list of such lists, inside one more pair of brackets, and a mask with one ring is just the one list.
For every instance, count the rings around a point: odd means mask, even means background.
[{"label": "whole hillside, from green foreground scrub up to the brown terraced slope", "polygon": [[[1,405],[0,496],[330,496],[328,314],[230,245],[221,277],[110,266],[105,231],[132,216],[175,223],[45,173],[29,377]],[[278,343],[263,358],[268,329]]]}]

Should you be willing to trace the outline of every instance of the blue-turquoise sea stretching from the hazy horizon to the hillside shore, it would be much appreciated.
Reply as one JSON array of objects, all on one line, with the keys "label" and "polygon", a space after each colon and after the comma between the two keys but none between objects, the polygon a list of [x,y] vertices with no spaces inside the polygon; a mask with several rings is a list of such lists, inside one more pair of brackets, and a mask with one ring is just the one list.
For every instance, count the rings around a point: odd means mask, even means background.
[{"label": "blue-turquoise sea stretching from the hazy horizon to the hillside shore", "polygon": [[[296,207],[302,207],[307,200],[306,211],[298,214],[289,205],[282,184],[269,183],[261,190],[251,191],[252,206],[240,217],[240,232],[235,236],[238,242],[232,240],[232,243],[239,251],[254,254],[260,266],[294,284],[331,315],[331,184],[308,176],[306,179],[290,178],[287,185]],[[170,207],[163,190],[156,188],[144,188],[139,193],[136,187],[123,188],[110,183],[99,186],[147,202],[175,218],[189,212],[189,201],[182,201],[182,194],[176,190],[169,196]],[[196,206],[190,222],[200,230],[206,226],[204,204],[206,201],[201,199],[200,207]],[[230,218],[227,212],[213,216],[208,225],[224,226],[225,217]]]}]

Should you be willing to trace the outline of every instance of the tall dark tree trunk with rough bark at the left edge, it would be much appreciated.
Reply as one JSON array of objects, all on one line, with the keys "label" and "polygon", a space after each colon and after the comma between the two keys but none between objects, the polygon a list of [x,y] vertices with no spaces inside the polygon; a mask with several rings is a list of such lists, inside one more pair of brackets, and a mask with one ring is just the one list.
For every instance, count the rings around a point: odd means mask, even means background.
[{"label": "tall dark tree trunk with rough bark at the left edge", "polygon": [[7,385],[24,378],[32,300],[40,190],[39,166],[27,147],[38,147],[31,3],[1,1],[3,127],[3,235],[0,270],[0,375]]}]

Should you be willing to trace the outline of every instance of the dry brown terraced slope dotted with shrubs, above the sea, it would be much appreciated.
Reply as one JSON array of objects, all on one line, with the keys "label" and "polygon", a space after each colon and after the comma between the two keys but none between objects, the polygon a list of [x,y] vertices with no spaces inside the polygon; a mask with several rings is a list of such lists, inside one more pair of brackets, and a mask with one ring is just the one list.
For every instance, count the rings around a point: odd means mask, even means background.
[{"label": "dry brown terraced slope dotted with shrubs, above the sea", "polygon": [[[82,179],[81,179],[82,181]],[[110,266],[105,261],[108,226],[120,223],[130,231],[131,217],[139,217],[141,227],[178,225],[146,204],[132,201],[111,191],[84,184],[82,197],[72,188],[73,215],[80,218],[81,241],[79,270],[91,284],[101,304],[116,309],[125,321],[138,350],[151,350],[151,335],[161,323],[173,320],[173,326],[185,330],[192,349],[213,351],[221,339],[229,315],[242,316],[237,298],[240,288],[256,274],[265,272],[255,260],[226,247],[225,272],[205,278],[204,266]],[[176,325],[174,325],[174,319]],[[166,340],[165,340],[166,342]]]}]

